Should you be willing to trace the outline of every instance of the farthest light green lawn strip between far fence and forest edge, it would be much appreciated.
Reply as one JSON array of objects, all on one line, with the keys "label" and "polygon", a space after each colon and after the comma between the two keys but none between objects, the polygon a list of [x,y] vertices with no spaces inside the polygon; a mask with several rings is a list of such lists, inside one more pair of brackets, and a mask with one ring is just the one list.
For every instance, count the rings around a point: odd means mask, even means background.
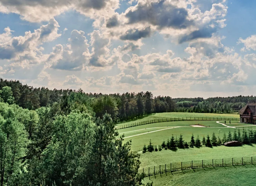
[{"label": "farthest light green lawn strip between far fence and forest edge", "polygon": [[129,121],[129,122],[122,122],[117,124],[117,126],[119,125],[126,125],[126,124],[132,124],[132,123],[139,123],[139,122],[144,122],[144,121],[149,121],[149,120],[160,120],[160,119],[164,119],[166,120],[166,118],[180,118],[182,119],[182,117],[185,119],[186,117],[188,117],[188,119],[194,118],[194,117],[215,117],[215,118],[239,118],[239,114],[237,113],[229,113],[229,114],[213,114],[213,113],[189,113],[189,112],[167,112],[167,113],[153,113],[153,114],[148,114],[146,116],[143,116],[142,118],[138,119],[138,120],[134,120],[134,121]]}]

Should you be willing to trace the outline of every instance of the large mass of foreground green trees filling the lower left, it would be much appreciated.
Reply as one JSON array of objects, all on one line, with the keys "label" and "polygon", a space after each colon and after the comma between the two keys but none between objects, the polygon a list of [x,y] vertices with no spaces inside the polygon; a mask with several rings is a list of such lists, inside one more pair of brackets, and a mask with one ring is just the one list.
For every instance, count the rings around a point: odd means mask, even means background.
[{"label": "large mass of foreground green trees filling the lower left", "polygon": [[117,137],[111,116],[85,110],[72,99],[35,111],[0,102],[0,185],[143,185],[131,142]]}]

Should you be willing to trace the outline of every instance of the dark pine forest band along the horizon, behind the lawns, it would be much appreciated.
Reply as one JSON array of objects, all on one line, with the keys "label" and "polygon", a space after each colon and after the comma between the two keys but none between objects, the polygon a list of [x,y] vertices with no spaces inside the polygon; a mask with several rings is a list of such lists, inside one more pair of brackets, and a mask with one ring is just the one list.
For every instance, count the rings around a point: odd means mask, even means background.
[{"label": "dark pine forest band along the horizon, behind the lawns", "polygon": [[[3,90],[3,87],[10,87],[10,89]],[[3,102],[15,103],[24,109],[36,110],[40,107],[55,105],[65,114],[77,109],[91,112],[96,117],[101,117],[107,112],[117,122],[160,112],[237,112],[248,102],[256,100],[256,96],[241,95],[208,99],[202,97],[173,99],[171,95],[153,96],[148,91],[123,94],[84,93],[82,89],[49,90],[46,87],[36,88],[19,81],[3,79],[0,79],[0,90]],[[10,99],[7,98],[8,96],[11,96]]]}]

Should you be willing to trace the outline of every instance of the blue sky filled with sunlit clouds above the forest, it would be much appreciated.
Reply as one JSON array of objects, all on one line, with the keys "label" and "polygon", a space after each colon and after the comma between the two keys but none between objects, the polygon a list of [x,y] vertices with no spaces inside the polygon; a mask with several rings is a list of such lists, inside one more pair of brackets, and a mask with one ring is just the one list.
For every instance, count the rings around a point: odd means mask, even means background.
[{"label": "blue sky filled with sunlit clouds above the forest", "polygon": [[255,0],[0,0],[0,77],[49,89],[256,95]]}]

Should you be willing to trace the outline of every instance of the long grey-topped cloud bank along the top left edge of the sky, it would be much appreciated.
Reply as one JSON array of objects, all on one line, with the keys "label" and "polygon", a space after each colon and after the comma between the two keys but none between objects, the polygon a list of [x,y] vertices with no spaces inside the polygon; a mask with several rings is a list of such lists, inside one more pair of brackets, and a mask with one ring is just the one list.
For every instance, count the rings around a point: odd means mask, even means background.
[{"label": "long grey-topped cloud bank along the top left edge of the sky", "polygon": [[91,18],[111,17],[118,6],[119,0],[1,0],[0,12],[13,12],[20,14],[21,19],[41,22],[68,10],[76,10]]}]

